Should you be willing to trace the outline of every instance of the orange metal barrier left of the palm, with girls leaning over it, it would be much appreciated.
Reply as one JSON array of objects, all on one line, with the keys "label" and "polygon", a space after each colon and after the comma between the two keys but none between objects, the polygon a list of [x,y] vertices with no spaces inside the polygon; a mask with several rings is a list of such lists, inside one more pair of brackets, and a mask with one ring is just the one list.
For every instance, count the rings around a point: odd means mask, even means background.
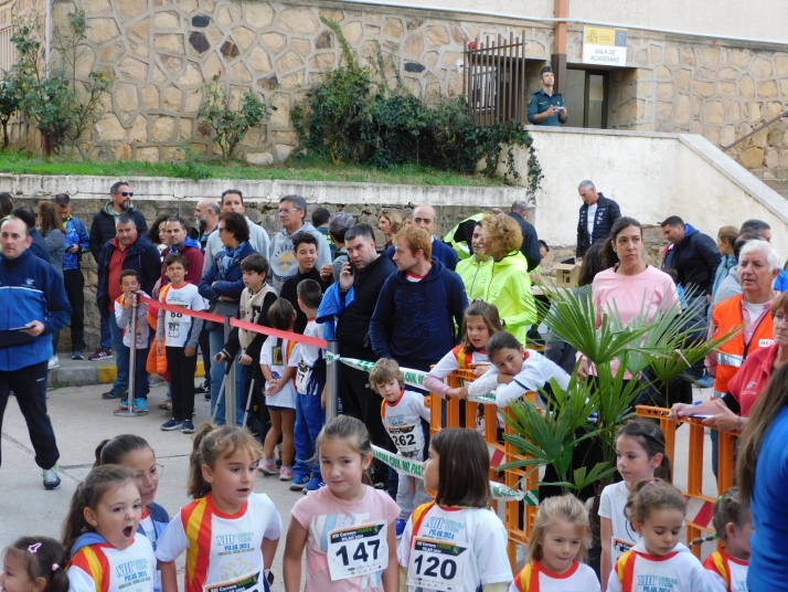
[{"label": "orange metal barrier left of the palm, with girls leaning over it", "polygon": [[[462,387],[464,383],[472,382],[476,380],[476,376],[471,370],[457,370],[446,378],[447,384],[451,388]],[[535,393],[528,393],[528,398],[532,403],[536,402]],[[460,423],[460,406],[465,404],[465,424]],[[513,461],[522,461],[529,458],[518,454],[509,443],[503,443],[498,441],[498,406],[497,405],[484,405],[482,403],[473,403],[471,401],[460,402],[459,399],[451,399],[447,401],[447,417],[446,427],[469,427],[471,430],[477,429],[477,416],[479,413],[479,408],[484,408],[484,441],[487,442],[488,450],[490,451],[490,479],[499,480],[504,483],[508,487],[518,490],[535,491],[537,490],[537,472],[532,471],[529,474],[530,467],[524,467],[521,469],[509,469],[504,472],[496,471],[494,466],[499,466],[505,463],[511,463]],[[429,397],[429,408],[433,410],[430,419],[430,433],[435,434],[439,432],[443,426],[443,399],[435,393],[430,393]],[[509,410],[507,413],[511,413]],[[507,424],[503,429],[504,433],[514,434],[515,432]],[[501,479],[501,473],[503,478]],[[521,479],[524,478],[524,485],[520,486]],[[531,535],[531,527],[536,519],[536,511],[539,507],[530,506],[526,501],[500,501],[494,500],[496,511],[499,509],[499,504],[504,505],[504,521],[503,525],[507,528],[509,536],[509,547],[508,554],[509,561],[512,564],[512,570],[517,572],[517,543],[528,545],[529,536]],[[523,527],[521,528],[520,525]]]}]

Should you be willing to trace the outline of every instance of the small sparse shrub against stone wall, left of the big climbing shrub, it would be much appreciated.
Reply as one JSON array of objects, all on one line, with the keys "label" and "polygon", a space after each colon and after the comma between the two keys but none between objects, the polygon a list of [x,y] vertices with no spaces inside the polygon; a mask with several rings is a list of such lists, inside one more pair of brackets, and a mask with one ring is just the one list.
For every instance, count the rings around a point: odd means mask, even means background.
[{"label": "small sparse shrub against stone wall, left of the big climbing shrub", "polygon": [[204,99],[198,109],[198,118],[207,124],[214,131],[214,141],[222,150],[222,157],[227,159],[235,155],[235,149],[246,137],[246,133],[270,117],[268,106],[256,94],[245,92],[237,109],[232,108],[232,96],[225,84],[220,83],[220,76],[205,84]]}]

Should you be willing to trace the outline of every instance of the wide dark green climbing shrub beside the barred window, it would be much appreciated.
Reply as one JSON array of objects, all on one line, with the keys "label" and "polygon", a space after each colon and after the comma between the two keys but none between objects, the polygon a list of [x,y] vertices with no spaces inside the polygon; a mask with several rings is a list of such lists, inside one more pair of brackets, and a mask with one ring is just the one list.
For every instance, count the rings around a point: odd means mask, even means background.
[{"label": "wide dark green climbing shrub beside the barred window", "polygon": [[396,78],[391,88],[380,44],[372,65],[362,67],[339,24],[321,20],[334,31],[342,59],[292,109],[301,152],[328,156],[334,163],[388,168],[415,162],[464,173],[476,172],[478,162],[484,160],[482,173],[493,177],[505,146],[504,180],[509,180],[520,178],[513,150],[521,146],[530,152],[528,191],[535,193],[542,169],[531,135],[518,121],[476,127],[464,96],[437,97],[428,106],[402,84],[390,57]]}]

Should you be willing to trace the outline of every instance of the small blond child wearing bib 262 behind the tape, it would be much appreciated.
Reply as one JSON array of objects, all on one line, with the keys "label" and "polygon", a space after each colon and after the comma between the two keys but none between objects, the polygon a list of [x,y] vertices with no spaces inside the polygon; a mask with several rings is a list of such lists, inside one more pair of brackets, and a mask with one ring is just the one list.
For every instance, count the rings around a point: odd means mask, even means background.
[{"label": "small blond child wearing bib 262 behind the tape", "polygon": [[[429,410],[424,406],[424,395],[405,390],[405,377],[396,360],[391,358],[381,358],[375,362],[370,372],[370,388],[383,398],[381,419],[397,452],[415,461],[424,461],[429,433]],[[424,489],[424,479],[405,473],[400,473],[398,477],[396,536],[402,537],[416,506],[432,501],[433,497]]]}]

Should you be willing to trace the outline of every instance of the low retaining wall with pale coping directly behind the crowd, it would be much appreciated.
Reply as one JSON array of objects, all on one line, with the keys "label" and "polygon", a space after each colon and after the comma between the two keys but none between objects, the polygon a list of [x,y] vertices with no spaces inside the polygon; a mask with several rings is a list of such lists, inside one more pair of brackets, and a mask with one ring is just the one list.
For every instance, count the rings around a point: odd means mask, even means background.
[{"label": "low retaining wall with pale coping directly behind the crowd", "polygon": [[[74,203],[74,215],[85,222],[88,230],[96,212],[109,199],[109,186],[115,179],[107,177],[42,177],[32,175],[0,173],[0,191],[13,194],[14,205],[35,207],[50,201],[55,193],[67,192]],[[205,197],[216,197],[231,187],[245,195],[246,215],[259,223],[269,235],[280,230],[278,203],[283,195],[297,193],[307,199],[308,209],[323,207],[331,212],[345,211],[359,222],[371,224],[376,230],[377,219],[384,208],[396,209],[403,219],[419,203],[432,203],[438,213],[440,235],[468,215],[482,208],[498,205],[508,209],[518,199],[523,199],[520,188],[459,188],[376,186],[372,183],[315,183],[290,181],[187,181],[182,179],[131,178],[135,207],[150,224],[159,214],[177,214],[190,224],[194,219],[194,205]],[[481,205],[483,204],[483,205]],[[307,220],[309,220],[309,214]],[[530,215],[533,222],[533,212]],[[384,243],[377,232],[377,242]],[[85,275],[85,339],[93,351],[98,346],[99,313],[96,306],[96,263],[90,254],[83,256]],[[61,350],[71,351],[71,334],[61,334]]]}]

